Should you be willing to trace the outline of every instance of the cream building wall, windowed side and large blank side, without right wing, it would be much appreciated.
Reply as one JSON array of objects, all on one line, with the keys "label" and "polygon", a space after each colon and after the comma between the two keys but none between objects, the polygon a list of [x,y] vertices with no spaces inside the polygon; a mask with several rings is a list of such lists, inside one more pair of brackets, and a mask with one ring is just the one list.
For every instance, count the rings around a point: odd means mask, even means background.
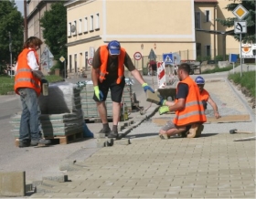
[{"label": "cream building wall, windowed side and large blank side, without right wing", "polygon": [[[148,56],[151,49],[159,55],[157,57],[159,60],[162,59],[163,53],[179,51],[184,58],[196,58],[193,0],[136,2],[92,0],[77,1],[66,6],[68,55],[72,59],[68,63],[70,73],[88,68],[86,52],[88,52],[87,58],[91,58],[93,49],[96,50],[111,40],[120,41],[131,58],[137,51],[143,56]],[[179,9],[181,7],[187,9]],[[87,23],[85,23],[86,17]],[[91,17],[93,17],[93,28]],[[74,71],[75,65],[77,69]]]}]

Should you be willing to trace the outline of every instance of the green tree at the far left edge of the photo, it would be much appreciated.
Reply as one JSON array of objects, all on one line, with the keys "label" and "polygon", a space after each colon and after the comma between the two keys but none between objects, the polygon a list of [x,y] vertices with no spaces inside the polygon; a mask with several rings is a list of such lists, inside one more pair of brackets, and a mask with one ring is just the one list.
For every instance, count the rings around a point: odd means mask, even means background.
[{"label": "green tree at the far left edge of the photo", "polygon": [[24,18],[17,11],[14,0],[0,1],[0,65],[10,63],[9,32],[12,43],[12,62],[16,60],[23,46]]}]

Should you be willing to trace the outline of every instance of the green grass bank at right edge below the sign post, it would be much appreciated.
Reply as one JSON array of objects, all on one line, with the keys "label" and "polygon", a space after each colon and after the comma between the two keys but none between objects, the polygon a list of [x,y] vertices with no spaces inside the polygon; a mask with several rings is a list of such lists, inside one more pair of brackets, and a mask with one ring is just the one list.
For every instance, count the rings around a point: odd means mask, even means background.
[{"label": "green grass bank at right edge below the sign post", "polygon": [[241,87],[245,87],[250,90],[251,95],[255,96],[255,70],[243,72],[240,77],[240,73],[229,74],[228,79],[233,80],[236,84],[240,84]]}]

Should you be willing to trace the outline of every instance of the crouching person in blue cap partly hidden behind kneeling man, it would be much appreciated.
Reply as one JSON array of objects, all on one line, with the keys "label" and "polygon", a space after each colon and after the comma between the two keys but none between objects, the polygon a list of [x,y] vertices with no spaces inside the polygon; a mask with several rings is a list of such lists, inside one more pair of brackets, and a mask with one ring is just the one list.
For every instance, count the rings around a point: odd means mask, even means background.
[{"label": "crouching person in blue cap partly hidden behind kneeling man", "polygon": [[203,79],[201,76],[198,76],[195,79],[196,83],[197,83],[197,87],[199,89],[200,92],[200,97],[201,100],[203,102],[204,105],[204,109],[207,109],[208,103],[210,104],[210,106],[212,107],[213,111],[214,111],[214,116],[216,119],[219,119],[219,111],[218,111],[218,107],[216,105],[216,103],[214,102],[213,99],[210,98],[210,95],[208,94],[208,91],[206,89],[204,89],[205,86],[205,79]]}]

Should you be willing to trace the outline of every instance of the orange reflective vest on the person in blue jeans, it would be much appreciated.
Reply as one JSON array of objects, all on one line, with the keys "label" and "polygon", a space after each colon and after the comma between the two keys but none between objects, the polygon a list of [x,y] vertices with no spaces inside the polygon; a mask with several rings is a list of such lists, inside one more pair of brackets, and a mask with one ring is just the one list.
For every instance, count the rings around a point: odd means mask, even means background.
[{"label": "orange reflective vest on the person in blue jeans", "polygon": [[37,93],[37,96],[39,96],[41,92],[40,79],[37,79],[35,76],[33,76],[32,69],[27,64],[27,54],[30,51],[33,51],[35,53],[38,64],[37,51],[35,49],[23,49],[23,51],[19,54],[17,58],[15,91],[16,94],[19,94],[18,89],[30,88],[34,89]]}]

